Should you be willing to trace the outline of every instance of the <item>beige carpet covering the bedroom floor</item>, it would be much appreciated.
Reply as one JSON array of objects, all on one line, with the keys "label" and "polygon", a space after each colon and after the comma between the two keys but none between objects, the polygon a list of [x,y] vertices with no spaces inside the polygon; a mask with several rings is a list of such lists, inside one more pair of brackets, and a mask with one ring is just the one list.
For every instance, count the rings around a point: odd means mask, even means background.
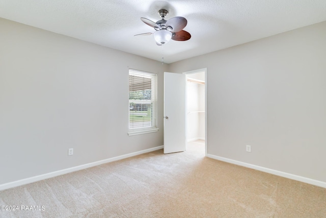
[{"label": "beige carpet covering the bedroom floor", "polygon": [[[326,217],[326,189],[162,150],[0,191],[0,217]],[[44,210],[42,210],[44,206]]]}]

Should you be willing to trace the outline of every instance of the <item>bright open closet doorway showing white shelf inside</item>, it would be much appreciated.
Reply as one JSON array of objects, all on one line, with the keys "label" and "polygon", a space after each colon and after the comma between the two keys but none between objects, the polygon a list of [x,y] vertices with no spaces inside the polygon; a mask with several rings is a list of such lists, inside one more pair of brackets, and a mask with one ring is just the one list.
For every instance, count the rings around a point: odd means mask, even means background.
[{"label": "bright open closet doorway showing white shelf inside", "polygon": [[206,155],[206,69],[185,74],[187,148]]}]

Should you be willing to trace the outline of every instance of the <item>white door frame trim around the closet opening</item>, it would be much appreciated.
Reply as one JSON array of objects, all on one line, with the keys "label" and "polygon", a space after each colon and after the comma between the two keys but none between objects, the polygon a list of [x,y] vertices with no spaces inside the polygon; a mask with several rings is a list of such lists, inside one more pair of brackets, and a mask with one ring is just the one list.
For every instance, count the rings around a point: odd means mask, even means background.
[{"label": "white door frame trim around the closet opening", "polygon": [[[208,140],[207,140],[207,68],[201,68],[201,69],[195,69],[195,70],[191,70],[191,71],[186,71],[186,72],[182,72],[182,74],[185,74],[186,76],[188,75],[191,75],[191,74],[197,74],[199,72],[205,72],[205,156],[207,157],[207,144],[208,144]],[[185,90],[185,93],[186,93],[186,99],[185,99],[185,104],[187,105],[188,104],[188,101],[187,101],[187,96],[188,96],[188,90],[187,90],[187,86],[185,86],[186,90]],[[184,111],[184,116],[185,116],[185,128],[188,128],[188,119],[187,119],[187,107]],[[188,136],[188,133],[187,133],[187,129],[185,131],[185,134],[186,134],[186,140],[187,140],[187,136]]]}]

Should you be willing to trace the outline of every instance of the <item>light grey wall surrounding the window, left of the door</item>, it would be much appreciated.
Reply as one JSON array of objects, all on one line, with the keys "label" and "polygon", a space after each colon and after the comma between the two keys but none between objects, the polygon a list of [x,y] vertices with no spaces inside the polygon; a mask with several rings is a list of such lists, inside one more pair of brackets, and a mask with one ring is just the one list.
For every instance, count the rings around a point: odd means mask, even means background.
[{"label": "light grey wall surrounding the window, left of the door", "polygon": [[[167,65],[5,19],[0,31],[0,184],[163,145]],[[127,135],[128,67],[159,74],[157,133]]]}]

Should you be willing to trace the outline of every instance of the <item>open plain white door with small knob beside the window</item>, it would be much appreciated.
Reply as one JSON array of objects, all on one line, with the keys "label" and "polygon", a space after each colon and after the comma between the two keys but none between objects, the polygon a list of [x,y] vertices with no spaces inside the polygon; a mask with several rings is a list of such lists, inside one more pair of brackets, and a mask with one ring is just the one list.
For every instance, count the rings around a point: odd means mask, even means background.
[{"label": "open plain white door with small knob beside the window", "polygon": [[185,151],[185,85],[184,74],[164,73],[164,154]]}]

